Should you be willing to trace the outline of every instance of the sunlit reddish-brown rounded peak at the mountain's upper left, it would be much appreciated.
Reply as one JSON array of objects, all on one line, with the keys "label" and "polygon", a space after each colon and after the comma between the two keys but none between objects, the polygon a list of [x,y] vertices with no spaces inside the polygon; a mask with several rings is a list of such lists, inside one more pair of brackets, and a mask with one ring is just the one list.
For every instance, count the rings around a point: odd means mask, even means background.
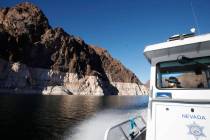
[{"label": "sunlit reddish-brown rounded peak at the mountain's upper left", "polygon": [[[30,3],[18,4],[0,11],[0,24],[11,36],[36,42],[46,29],[50,28],[43,12]],[[17,40],[18,42],[19,40]]]}]

